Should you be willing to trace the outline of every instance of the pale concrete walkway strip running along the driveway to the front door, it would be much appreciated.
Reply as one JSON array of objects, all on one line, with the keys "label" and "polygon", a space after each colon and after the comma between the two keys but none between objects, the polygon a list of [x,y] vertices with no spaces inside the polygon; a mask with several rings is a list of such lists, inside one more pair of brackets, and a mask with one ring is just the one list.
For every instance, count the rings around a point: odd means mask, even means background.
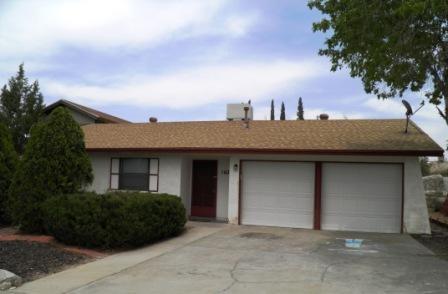
[{"label": "pale concrete walkway strip running along the driveway to the front door", "polygon": [[227,224],[187,224],[187,231],[179,237],[156,243],[141,249],[127,251],[83,264],[42,279],[24,284],[12,293],[67,293],[107,276],[118,274],[151,258],[181,248],[191,242],[224,229]]}]

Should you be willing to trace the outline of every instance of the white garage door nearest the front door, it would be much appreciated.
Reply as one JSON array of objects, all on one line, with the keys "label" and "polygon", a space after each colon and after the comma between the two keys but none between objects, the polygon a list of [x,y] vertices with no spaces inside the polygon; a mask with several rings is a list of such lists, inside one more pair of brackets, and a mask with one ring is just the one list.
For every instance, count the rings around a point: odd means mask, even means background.
[{"label": "white garage door nearest the front door", "polygon": [[247,161],[242,172],[242,224],[313,227],[314,163]]}]

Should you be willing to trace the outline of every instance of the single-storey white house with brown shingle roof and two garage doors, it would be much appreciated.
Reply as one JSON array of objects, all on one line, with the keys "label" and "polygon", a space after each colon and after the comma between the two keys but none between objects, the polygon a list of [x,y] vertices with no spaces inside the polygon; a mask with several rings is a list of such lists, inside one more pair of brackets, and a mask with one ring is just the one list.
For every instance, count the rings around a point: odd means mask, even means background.
[{"label": "single-storey white house with brown shingle roof and two garage doors", "polygon": [[429,233],[419,156],[443,149],[404,119],[83,126],[91,190],[179,195],[232,224]]}]

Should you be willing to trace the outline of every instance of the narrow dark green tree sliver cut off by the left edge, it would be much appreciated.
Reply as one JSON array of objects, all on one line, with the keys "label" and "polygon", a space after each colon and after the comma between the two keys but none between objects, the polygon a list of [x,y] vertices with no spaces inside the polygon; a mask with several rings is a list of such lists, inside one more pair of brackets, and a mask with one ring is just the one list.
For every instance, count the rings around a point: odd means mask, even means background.
[{"label": "narrow dark green tree sliver cut off by the left edge", "polygon": [[0,123],[0,223],[8,223],[7,196],[17,166],[17,154],[12,144],[11,134]]}]

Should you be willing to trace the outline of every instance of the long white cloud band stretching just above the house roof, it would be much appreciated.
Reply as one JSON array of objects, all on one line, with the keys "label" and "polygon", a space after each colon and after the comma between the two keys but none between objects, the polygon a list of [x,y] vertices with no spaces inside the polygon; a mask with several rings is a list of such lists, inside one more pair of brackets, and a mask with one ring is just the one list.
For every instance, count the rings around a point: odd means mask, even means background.
[{"label": "long white cloud band stretching just above the house roof", "polygon": [[42,80],[44,92],[87,104],[183,108],[208,103],[266,99],[292,84],[328,74],[319,61],[266,60],[202,65],[158,76],[123,76],[114,84],[65,84]]}]

